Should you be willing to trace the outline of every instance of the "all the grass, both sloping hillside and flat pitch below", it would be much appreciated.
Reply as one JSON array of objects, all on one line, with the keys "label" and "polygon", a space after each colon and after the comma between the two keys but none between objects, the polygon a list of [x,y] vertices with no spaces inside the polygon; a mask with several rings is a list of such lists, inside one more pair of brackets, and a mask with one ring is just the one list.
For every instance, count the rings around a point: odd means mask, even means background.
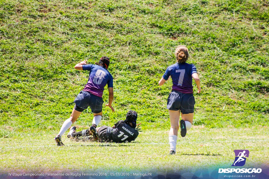
[{"label": "all the grass, both sloping hillside and flat pitch below", "polygon": [[[268,7],[266,0],[0,1],[0,171],[228,167],[236,149],[250,151],[246,165],[268,168]],[[194,93],[193,128],[169,156],[172,84],[158,81],[178,45],[189,49],[202,92]],[[73,67],[101,56],[111,59],[115,96],[115,113],[103,107],[101,125],[132,109],[143,132],[130,144],[64,136],[66,146],[56,147],[89,75]],[[92,117],[85,111],[74,125],[86,129]]]}]

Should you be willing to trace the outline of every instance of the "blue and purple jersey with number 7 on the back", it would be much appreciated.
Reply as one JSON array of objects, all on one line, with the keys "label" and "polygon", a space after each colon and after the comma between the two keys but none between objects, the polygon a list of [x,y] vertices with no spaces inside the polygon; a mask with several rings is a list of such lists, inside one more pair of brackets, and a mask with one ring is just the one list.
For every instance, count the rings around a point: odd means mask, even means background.
[{"label": "blue and purple jersey with number 7 on the back", "polygon": [[162,78],[168,80],[169,76],[172,78],[172,90],[181,93],[193,93],[192,74],[197,73],[196,67],[188,63],[175,63],[169,66]]}]

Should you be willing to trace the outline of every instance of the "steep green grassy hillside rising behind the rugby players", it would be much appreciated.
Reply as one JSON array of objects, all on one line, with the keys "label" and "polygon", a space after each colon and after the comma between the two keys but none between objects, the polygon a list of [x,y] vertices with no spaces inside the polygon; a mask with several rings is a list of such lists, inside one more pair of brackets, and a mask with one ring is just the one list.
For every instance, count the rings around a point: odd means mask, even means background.
[{"label": "steep green grassy hillside rising behind the rugby players", "polygon": [[[159,87],[158,81],[175,63],[178,45],[187,46],[201,79],[194,125],[268,126],[268,6],[265,0],[0,1],[0,137],[56,134],[88,79],[75,64],[102,56],[111,59],[115,113],[103,107],[101,125],[133,109],[144,130],[168,130],[172,82]],[[75,125],[88,126],[92,117],[85,111]]]}]

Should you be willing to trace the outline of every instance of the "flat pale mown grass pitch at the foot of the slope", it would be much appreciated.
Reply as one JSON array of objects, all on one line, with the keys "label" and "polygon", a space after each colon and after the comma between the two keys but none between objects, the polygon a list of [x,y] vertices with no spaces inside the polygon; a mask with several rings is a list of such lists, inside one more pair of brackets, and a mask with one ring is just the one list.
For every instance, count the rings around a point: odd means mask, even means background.
[{"label": "flat pale mown grass pitch at the foot of the slope", "polygon": [[227,168],[236,149],[250,151],[244,167],[268,167],[268,128],[208,129],[194,126],[178,138],[176,155],[168,155],[168,130],[144,130],[131,143],[71,141],[56,146],[52,131],[20,133],[2,138],[1,171],[145,171],[174,172]]}]

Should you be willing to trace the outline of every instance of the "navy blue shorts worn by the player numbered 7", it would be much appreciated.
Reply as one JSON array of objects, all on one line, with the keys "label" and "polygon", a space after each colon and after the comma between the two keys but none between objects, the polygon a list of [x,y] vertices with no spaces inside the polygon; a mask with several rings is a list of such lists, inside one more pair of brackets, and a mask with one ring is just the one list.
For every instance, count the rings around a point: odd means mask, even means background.
[{"label": "navy blue shorts worn by the player numbered 7", "polygon": [[172,91],[167,99],[167,109],[172,111],[180,110],[182,114],[194,112],[194,96],[192,93],[180,93]]}]

